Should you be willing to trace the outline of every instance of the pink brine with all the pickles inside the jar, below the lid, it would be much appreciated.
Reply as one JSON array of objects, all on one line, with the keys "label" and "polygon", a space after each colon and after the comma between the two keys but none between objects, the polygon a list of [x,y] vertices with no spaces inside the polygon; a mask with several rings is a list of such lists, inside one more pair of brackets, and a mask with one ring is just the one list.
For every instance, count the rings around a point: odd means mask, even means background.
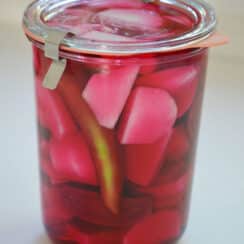
[{"label": "pink brine with all the pickles inside the jar, below the lid", "polygon": [[186,227],[207,52],[116,59],[69,60],[50,91],[50,60],[34,47],[43,219],[55,243],[174,243]]}]

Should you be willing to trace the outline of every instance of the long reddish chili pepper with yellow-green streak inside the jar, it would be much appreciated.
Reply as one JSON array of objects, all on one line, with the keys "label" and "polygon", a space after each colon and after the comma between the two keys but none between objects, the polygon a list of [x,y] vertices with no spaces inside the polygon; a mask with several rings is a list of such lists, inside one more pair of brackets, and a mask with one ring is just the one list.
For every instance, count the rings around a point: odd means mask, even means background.
[{"label": "long reddish chili pepper with yellow-green streak inside the jar", "polygon": [[67,107],[90,143],[104,204],[114,214],[119,212],[123,167],[119,160],[115,135],[100,127],[95,115],[81,97],[80,86],[65,76],[58,86]]}]

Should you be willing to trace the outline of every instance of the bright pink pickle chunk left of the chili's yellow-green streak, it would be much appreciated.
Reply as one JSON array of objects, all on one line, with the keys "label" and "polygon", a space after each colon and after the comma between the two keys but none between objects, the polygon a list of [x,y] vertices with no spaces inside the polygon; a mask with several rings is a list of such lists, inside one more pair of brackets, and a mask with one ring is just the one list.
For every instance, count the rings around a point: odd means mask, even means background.
[{"label": "bright pink pickle chunk left of the chili's yellow-green streak", "polygon": [[81,134],[53,140],[50,155],[58,175],[84,184],[97,185],[97,177],[91,153]]}]

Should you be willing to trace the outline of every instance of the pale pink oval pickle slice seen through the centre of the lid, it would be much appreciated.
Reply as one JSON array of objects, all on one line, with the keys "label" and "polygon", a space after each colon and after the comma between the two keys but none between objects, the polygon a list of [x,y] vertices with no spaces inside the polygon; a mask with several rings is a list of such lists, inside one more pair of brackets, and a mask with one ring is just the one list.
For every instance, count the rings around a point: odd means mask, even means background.
[{"label": "pale pink oval pickle slice seen through the centre of the lid", "polygon": [[151,29],[162,26],[163,21],[157,12],[144,9],[108,9],[94,17],[105,25],[120,28]]}]

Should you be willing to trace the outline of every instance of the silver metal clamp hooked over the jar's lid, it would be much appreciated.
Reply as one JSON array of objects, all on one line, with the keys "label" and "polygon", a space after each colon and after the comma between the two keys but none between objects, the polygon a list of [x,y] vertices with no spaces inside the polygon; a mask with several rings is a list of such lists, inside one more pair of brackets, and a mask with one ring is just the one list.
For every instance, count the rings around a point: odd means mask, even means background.
[{"label": "silver metal clamp hooked over the jar's lid", "polygon": [[45,56],[51,58],[53,61],[42,83],[44,88],[50,90],[56,89],[65,71],[67,60],[60,59],[59,47],[67,34],[68,32],[60,30],[47,30],[44,51]]}]

